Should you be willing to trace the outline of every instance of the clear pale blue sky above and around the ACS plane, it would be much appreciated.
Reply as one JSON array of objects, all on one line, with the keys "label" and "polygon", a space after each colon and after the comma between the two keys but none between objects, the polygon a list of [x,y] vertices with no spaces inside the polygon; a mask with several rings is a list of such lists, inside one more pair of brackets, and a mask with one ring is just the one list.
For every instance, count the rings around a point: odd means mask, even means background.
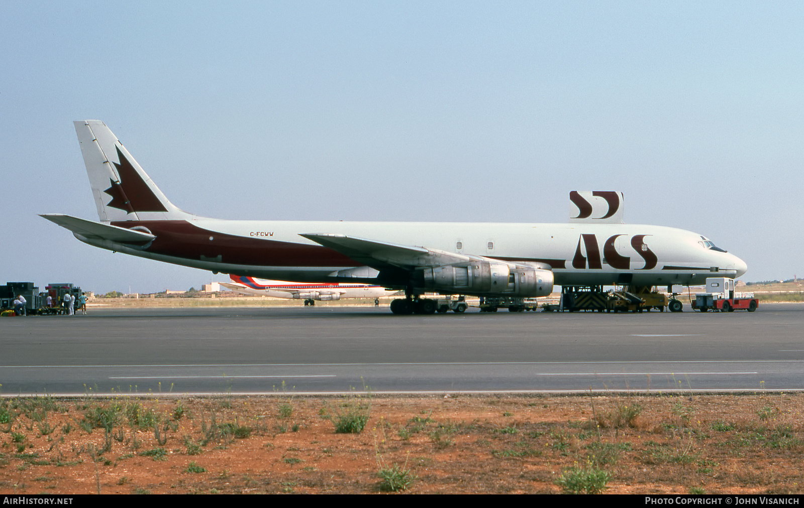
[{"label": "clear pale blue sky above and around the ACS plane", "polygon": [[802,26],[801,2],[3,2],[0,284],[211,280],[37,216],[97,219],[88,118],[199,215],[565,222],[570,190],[622,190],[747,281],[804,277]]}]

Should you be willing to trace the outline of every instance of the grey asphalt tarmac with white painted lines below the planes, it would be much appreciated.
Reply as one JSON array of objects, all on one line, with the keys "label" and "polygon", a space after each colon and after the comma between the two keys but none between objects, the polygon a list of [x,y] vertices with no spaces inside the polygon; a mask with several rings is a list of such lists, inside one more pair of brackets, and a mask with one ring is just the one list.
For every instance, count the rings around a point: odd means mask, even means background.
[{"label": "grey asphalt tarmac with white painted lines below the planes", "polygon": [[2,395],[804,388],[804,304],[755,313],[91,310],[0,319]]}]

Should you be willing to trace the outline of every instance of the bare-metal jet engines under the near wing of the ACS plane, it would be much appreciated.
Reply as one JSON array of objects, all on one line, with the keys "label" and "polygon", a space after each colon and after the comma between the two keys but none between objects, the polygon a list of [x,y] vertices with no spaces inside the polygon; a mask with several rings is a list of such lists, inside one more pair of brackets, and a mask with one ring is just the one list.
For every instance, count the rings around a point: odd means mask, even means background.
[{"label": "bare-metal jet engines under the near wing of the ACS plane", "polygon": [[472,261],[416,270],[416,282],[437,293],[509,297],[545,297],[552,293],[553,274],[525,264]]}]

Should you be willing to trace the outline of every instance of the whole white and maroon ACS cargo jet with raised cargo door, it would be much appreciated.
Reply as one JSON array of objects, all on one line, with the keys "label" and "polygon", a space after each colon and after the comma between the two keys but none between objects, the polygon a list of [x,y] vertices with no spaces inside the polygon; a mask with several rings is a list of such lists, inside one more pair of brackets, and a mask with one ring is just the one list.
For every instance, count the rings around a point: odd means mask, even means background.
[{"label": "whole white and maroon ACS cargo jet with raised cargo door", "polygon": [[100,222],[43,217],[79,240],[213,273],[404,290],[394,313],[432,313],[425,292],[515,299],[554,284],[669,287],[746,271],[697,233],[621,223],[622,195],[608,191],[572,191],[570,223],[207,219],[170,203],[102,121],[75,125]]}]

